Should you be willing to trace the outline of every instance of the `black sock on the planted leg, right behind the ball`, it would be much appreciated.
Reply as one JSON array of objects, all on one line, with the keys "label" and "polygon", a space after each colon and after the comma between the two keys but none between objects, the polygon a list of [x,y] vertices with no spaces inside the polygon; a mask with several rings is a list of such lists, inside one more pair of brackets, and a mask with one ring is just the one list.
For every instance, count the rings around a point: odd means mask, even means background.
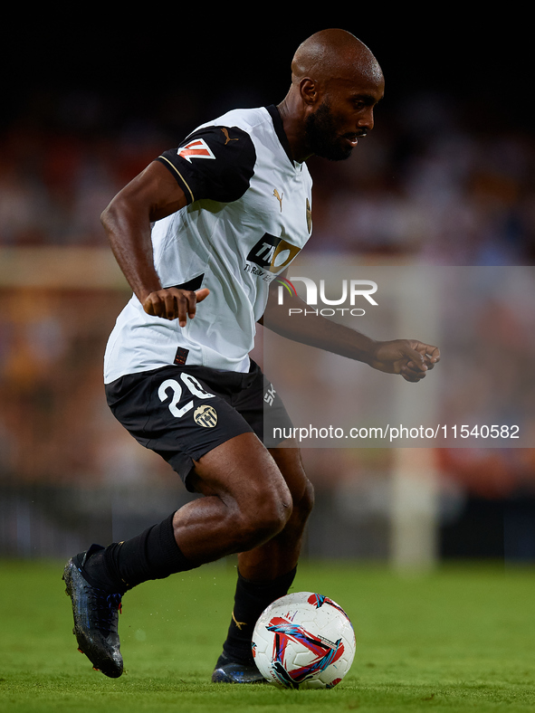
[{"label": "black sock on the planted leg, right behind the ball", "polygon": [[236,594],[234,595],[234,611],[232,620],[223,644],[223,651],[233,661],[253,662],[251,642],[254,624],[269,604],[284,594],[288,594],[295,577],[297,567],[286,575],[272,579],[269,582],[256,582],[244,579],[238,572]]}]

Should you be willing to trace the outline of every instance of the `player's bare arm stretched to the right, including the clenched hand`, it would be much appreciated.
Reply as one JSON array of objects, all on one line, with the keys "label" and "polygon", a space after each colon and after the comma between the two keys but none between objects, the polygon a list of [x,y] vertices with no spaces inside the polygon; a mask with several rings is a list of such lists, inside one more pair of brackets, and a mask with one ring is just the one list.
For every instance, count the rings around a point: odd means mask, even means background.
[{"label": "player's bare arm stretched to the right, including the clenched hand", "polygon": [[[282,337],[347,356],[386,374],[400,374],[413,383],[421,381],[440,360],[438,347],[417,339],[377,341],[321,315],[310,318],[305,314],[306,302],[296,295],[291,296],[291,302],[286,298],[283,308],[270,299],[260,320]],[[295,308],[291,317],[289,308]]]}]

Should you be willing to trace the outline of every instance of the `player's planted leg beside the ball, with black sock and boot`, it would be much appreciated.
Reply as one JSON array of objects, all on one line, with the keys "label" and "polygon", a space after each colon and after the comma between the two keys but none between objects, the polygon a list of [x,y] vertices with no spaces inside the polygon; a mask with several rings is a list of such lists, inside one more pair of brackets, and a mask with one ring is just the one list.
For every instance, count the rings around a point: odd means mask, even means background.
[{"label": "player's planted leg beside the ball, with black sock and boot", "polygon": [[254,623],[268,604],[287,594],[301,554],[304,528],[313,507],[313,489],[296,447],[270,449],[291,492],[292,513],[280,533],[263,545],[238,555],[238,580],[234,610],[215,665],[212,680],[256,683],[263,677],[253,664],[251,642]]}]

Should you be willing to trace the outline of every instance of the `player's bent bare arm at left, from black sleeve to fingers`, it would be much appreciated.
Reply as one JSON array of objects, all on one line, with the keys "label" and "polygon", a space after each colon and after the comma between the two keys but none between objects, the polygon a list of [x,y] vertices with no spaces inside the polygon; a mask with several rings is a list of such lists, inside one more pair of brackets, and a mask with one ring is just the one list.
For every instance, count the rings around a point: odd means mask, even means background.
[{"label": "player's bent bare arm at left, from black sleeve to fingers", "polygon": [[154,267],[150,223],[186,204],[186,195],[175,178],[165,166],[153,161],[100,215],[115,259],[143,309],[155,317],[178,319],[181,327],[186,325],[186,318],[195,316],[196,303],[205,299],[209,290],[162,288]]}]

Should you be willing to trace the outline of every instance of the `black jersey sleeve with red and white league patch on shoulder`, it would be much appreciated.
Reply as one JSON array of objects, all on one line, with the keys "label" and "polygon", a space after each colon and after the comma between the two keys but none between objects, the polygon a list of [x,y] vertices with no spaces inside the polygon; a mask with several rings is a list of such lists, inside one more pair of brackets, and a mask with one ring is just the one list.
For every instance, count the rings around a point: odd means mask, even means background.
[{"label": "black jersey sleeve with red and white league patch on shoulder", "polygon": [[187,203],[232,203],[249,188],[256,163],[253,140],[236,127],[205,127],[157,159],[177,179]]}]

